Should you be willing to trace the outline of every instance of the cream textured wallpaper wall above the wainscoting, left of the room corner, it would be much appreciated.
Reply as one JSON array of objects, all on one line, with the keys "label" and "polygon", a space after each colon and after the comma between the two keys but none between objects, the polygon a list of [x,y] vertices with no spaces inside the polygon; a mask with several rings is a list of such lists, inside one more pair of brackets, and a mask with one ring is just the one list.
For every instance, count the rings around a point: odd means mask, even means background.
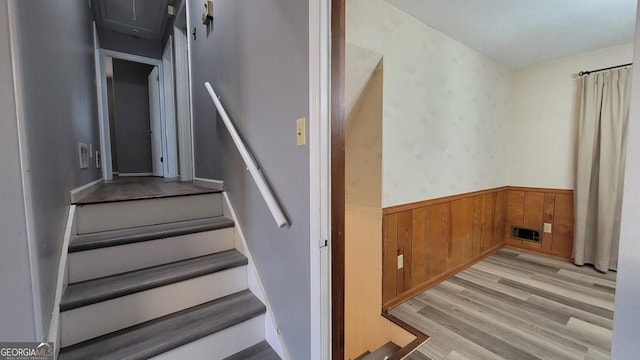
[{"label": "cream textured wallpaper wall above the wainscoting, left of the room corner", "polygon": [[382,0],[347,42],[383,56],[382,206],[507,184],[510,71]]}]

